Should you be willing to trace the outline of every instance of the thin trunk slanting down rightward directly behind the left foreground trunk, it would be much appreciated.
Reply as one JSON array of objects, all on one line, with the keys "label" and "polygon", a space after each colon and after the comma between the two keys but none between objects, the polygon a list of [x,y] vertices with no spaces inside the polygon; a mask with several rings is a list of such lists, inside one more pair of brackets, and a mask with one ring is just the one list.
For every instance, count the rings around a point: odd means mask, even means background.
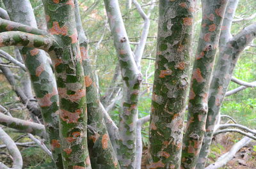
[{"label": "thin trunk slanting down rightward directly behind the left foreground trunk", "polygon": [[88,125],[92,129],[88,129],[88,149],[90,152],[90,160],[92,168],[120,168],[116,154],[109,139],[108,129],[103,119],[102,108],[100,108],[99,94],[97,85],[95,84],[95,74],[88,57],[88,41],[84,34],[81,18],[79,15],[79,7],[77,0],[76,5],[76,26],[79,34],[79,44],[81,56],[83,59],[84,79],[86,85],[86,103],[88,111]]}]

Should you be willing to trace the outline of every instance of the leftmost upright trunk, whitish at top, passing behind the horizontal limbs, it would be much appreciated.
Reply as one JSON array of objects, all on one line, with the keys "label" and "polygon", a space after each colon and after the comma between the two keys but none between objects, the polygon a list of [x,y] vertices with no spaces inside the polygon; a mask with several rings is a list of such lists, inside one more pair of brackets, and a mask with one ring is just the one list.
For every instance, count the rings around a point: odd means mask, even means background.
[{"label": "leftmost upright trunk, whitish at top, passing behind the horizontal limbs", "polygon": [[[19,2],[15,0],[4,0],[3,2],[13,22],[2,20],[1,27],[3,27],[4,22],[8,26],[16,26],[17,30],[24,30],[31,27],[31,30],[33,30],[31,33],[47,34],[46,31],[37,29],[33,8],[28,0]],[[20,26],[17,23],[24,24],[24,26]],[[12,27],[13,29],[15,27]],[[51,65],[47,62],[47,55],[45,55],[43,50],[28,47],[20,48],[20,53],[31,77],[36,99],[38,100],[45,128],[49,135],[49,143],[52,145],[55,142],[60,142],[59,118],[57,114],[58,92]],[[63,168],[60,147],[51,146],[51,151],[56,167]]]}]

